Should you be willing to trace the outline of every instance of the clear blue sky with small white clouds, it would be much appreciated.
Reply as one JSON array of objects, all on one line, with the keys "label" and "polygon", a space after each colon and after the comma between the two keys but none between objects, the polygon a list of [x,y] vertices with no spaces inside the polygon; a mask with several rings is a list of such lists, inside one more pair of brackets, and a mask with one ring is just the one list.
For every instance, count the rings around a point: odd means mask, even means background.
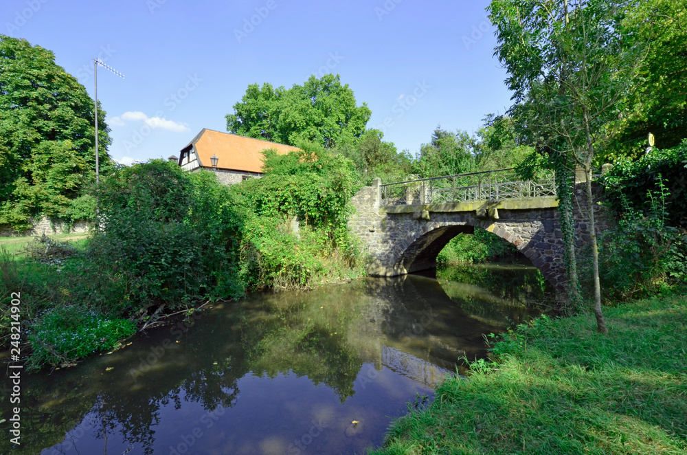
[{"label": "clear blue sky with small white clouds", "polygon": [[130,163],[178,155],[251,83],[302,84],[340,74],[368,127],[417,153],[433,129],[477,130],[510,105],[493,57],[488,1],[3,0],[0,34],[54,52],[107,112],[110,155]]}]

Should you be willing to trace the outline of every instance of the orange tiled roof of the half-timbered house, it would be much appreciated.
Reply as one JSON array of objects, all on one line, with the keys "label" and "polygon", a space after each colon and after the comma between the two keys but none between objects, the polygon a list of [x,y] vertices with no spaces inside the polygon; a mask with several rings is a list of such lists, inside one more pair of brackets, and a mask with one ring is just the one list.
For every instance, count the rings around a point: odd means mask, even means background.
[{"label": "orange tiled roof of the half-timbered house", "polygon": [[221,133],[207,128],[203,128],[203,131],[183,148],[181,157],[183,157],[183,151],[190,149],[190,146],[195,149],[203,167],[211,167],[210,157],[216,155],[217,168],[243,170],[250,173],[262,173],[262,153],[260,152],[267,148],[274,148],[280,155],[299,150],[289,145]]}]

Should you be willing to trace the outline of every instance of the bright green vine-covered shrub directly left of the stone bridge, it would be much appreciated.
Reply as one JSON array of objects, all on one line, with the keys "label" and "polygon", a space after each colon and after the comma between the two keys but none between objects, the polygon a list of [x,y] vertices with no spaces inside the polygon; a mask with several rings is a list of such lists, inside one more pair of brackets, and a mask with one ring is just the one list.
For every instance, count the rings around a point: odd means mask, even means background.
[{"label": "bright green vine-covered shrub directly left of the stone bridge", "polygon": [[[265,153],[264,176],[232,188],[250,213],[240,277],[257,289],[309,287],[359,274],[346,220],[357,191],[350,159],[303,144],[288,155]],[[300,226],[292,232],[294,225]]]}]

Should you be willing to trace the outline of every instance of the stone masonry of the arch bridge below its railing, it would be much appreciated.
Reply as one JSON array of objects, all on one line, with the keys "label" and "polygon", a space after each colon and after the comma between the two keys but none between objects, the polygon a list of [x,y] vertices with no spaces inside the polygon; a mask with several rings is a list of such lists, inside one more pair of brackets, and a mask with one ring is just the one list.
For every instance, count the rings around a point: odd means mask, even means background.
[{"label": "stone masonry of the arch bridge below its railing", "polygon": [[[563,234],[555,196],[381,206],[381,181],[352,198],[351,232],[363,243],[371,276],[396,276],[436,267],[436,256],[458,234],[484,229],[517,247],[557,291],[565,291]],[[596,196],[595,196],[596,199]],[[583,184],[574,193],[578,247],[589,241]],[[594,205],[597,232],[609,217]]]}]

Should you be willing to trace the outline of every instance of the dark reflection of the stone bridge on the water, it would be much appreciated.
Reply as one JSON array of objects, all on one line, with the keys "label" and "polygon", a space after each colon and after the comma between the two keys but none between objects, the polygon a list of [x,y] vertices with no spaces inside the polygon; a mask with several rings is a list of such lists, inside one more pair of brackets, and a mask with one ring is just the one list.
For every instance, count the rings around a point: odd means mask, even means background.
[{"label": "dark reflection of the stone bridge on the water", "polygon": [[349,327],[348,343],[363,363],[431,388],[457,367],[464,374],[460,358],[486,355],[484,333],[528,318],[528,309],[514,307],[517,296],[495,296],[475,285],[466,292],[446,283],[455,294],[449,296],[438,280],[423,276],[371,278],[365,284],[370,300]]}]

